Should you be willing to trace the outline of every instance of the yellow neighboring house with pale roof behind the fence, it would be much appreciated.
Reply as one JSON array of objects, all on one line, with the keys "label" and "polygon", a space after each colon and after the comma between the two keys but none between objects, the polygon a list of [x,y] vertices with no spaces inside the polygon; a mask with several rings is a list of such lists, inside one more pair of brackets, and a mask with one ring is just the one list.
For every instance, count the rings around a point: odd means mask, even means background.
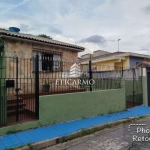
[{"label": "yellow neighboring house with pale roof behind the fence", "polygon": [[129,69],[135,67],[137,64],[150,58],[148,55],[142,55],[132,52],[106,52],[102,50],[95,51],[92,55],[85,54],[81,56],[80,64],[88,65],[92,60],[92,69],[97,71],[118,70],[124,67]]}]

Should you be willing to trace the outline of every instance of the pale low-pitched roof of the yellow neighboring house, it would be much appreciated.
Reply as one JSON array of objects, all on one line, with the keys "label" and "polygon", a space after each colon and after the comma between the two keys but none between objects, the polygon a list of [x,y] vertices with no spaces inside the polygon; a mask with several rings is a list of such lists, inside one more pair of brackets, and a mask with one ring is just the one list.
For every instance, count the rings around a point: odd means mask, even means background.
[{"label": "pale low-pitched roof of the yellow neighboring house", "polygon": [[[138,53],[132,53],[132,52],[113,52],[113,53],[108,53],[108,54],[104,54],[104,55],[100,55],[100,56],[95,56],[92,57],[91,60],[93,62],[98,62],[98,61],[106,61],[106,60],[112,60],[112,59],[122,59],[125,56],[132,56],[132,57],[148,57],[150,58],[149,55],[143,55],[143,54],[138,54]],[[87,62],[89,61],[89,58],[85,58],[85,59],[81,59],[80,62]]]}]

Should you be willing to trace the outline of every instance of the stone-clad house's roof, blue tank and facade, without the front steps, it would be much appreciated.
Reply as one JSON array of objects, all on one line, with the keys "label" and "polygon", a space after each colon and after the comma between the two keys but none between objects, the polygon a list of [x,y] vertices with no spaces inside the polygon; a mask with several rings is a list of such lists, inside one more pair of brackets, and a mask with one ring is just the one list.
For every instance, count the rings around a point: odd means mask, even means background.
[{"label": "stone-clad house's roof, blue tank and facade, without the front steps", "polygon": [[[37,53],[39,55],[39,88],[42,92],[43,84],[51,82],[52,79],[62,78],[65,72],[69,72],[74,62],[78,61],[78,52],[84,51],[81,46],[23,34],[16,30],[12,31],[12,29],[18,28],[0,29],[0,66],[5,68],[0,69],[0,74],[3,73],[3,77],[0,76],[0,78],[14,80],[14,87],[16,87],[17,82],[18,88],[23,93],[34,91],[33,79],[35,78],[35,57]],[[16,57],[18,63],[14,59]],[[51,90],[54,88],[56,87],[53,82],[51,83]],[[12,89],[8,89],[7,92],[10,91]],[[15,93],[15,89],[13,92]]]}]

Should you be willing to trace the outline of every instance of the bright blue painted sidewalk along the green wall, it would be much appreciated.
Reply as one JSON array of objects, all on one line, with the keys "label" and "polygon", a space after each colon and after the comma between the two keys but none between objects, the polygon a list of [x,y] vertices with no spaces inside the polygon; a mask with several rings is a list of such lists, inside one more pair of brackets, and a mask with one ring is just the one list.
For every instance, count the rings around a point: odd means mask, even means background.
[{"label": "bright blue painted sidewalk along the green wall", "polygon": [[77,132],[81,129],[90,128],[92,126],[105,124],[124,118],[144,115],[150,115],[150,108],[145,106],[139,106],[129,109],[128,111],[123,111],[119,113],[82,120],[75,120],[71,122],[65,122],[27,131],[21,131],[14,134],[4,135],[0,137],[0,150],[4,150],[6,148],[14,148],[21,145],[27,145],[29,143],[31,144],[47,139],[53,139],[55,137],[62,137],[72,134],[73,132]]}]

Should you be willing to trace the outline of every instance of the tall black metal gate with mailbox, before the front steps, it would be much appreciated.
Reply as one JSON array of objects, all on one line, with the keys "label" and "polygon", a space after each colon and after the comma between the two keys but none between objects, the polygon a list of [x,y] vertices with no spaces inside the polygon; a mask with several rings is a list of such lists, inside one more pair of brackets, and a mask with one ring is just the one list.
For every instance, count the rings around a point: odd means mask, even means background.
[{"label": "tall black metal gate with mailbox, before the front steps", "polygon": [[39,118],[38,56],[33,59],[0,57],[0,126]]}]

